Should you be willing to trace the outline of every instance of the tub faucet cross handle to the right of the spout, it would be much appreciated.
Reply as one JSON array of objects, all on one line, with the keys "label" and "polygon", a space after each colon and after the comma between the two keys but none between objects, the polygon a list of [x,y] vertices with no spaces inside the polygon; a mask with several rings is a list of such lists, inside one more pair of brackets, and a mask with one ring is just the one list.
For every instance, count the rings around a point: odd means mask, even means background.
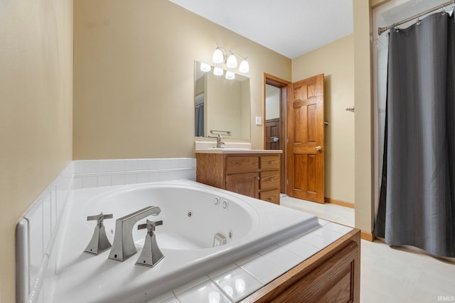
[{"label": "tub faucet cross handle to the right of the spout", "polygon": [[163,225],[163,221],[146,221],[146,224],[140,224],[137,229],[147,228],[147,234],[145,236],[144,248],[142,248],[141,255],[137,258],[137,265],[148,266],[153,268],[156,263],[159,263],[164,258],[163,253],[159,249],[158,243],[156,243],[155,227]]}]

